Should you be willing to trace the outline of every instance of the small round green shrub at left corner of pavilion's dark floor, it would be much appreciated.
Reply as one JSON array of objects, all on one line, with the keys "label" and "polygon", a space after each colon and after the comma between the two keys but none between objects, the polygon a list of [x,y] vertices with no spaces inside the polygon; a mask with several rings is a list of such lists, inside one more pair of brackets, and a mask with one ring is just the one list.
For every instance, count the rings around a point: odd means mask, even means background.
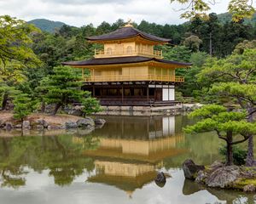
[{"label": "small round green shrub at left corner of pavilion's dark floor", "polygon": [[102,111],[102,107],[99,104],[99,101],[92,97],[83,99],[82,105],[84,106],[82,111],[85,116]]}]

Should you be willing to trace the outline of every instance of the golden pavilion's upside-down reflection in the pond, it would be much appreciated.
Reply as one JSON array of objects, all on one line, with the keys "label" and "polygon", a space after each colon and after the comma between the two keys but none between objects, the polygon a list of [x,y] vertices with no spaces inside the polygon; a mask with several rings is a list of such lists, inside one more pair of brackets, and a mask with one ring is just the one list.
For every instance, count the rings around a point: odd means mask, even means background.
[{"label": "golden pavilion's upside-down reflection in the pond", "polygon": [[[126,116],[120,120],[117,123],[108,117],[105,126],[96,132],[99,139],[96,150],[84,150],[84,156],[94,158],[96,166],[96,174],[87,181],[114,185],[131,195],[154,180],[166,157],[185,151],[177,147],[184,137],[175,131],[175,116],[136,119]],[[73,137],[73,142],[82,139]]]}]

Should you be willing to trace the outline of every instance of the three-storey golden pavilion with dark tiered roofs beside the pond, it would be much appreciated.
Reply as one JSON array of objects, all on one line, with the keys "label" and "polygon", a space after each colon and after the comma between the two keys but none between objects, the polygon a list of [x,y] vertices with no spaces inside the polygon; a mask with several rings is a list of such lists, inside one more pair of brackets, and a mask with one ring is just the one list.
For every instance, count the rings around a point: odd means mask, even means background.
[{"label": "three-storey golden pavilion with dark tiered roofs beside the pond", "polygon": [[172,105],[175,102],[175,86],[184,82],[183,77],[175,75],[175,70],[191,64],[163,59],[162,51],[154,49],[156,45],[171,42],[170,39],[139,31],[128,23],[87,40],[102,44],[102,50],[95,50],[92,59],[63,65],[81,69],[83,89],[100,99],[101,105]]}]

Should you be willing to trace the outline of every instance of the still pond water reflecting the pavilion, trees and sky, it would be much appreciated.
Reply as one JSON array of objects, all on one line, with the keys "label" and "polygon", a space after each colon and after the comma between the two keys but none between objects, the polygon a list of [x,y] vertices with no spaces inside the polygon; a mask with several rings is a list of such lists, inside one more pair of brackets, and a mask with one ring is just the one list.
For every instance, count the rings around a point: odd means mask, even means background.
[{"label": "still pond water reflecting the pavilion, trees and sky", "polygon": [[[3,204],[256,203],[253,195],[206,189],[183,177],[182,162],[221,159],[213,133],[184,135],[186,116],[105,116],[102,128],[0,132]],[[166,185],[154,183],[157,172]]]}]

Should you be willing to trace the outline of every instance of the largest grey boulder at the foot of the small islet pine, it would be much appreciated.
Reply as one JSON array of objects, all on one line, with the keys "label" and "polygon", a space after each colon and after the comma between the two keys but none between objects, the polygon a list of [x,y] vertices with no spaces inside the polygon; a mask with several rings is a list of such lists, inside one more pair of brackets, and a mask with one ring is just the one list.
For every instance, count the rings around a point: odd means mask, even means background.
[{"label": "largest grey boulder at the foot of the small islet pine", "polygon": [[240,175],[240,168],[237,166],[218,167],[206,178],[209,187],[224,188],[232,184]]}]

